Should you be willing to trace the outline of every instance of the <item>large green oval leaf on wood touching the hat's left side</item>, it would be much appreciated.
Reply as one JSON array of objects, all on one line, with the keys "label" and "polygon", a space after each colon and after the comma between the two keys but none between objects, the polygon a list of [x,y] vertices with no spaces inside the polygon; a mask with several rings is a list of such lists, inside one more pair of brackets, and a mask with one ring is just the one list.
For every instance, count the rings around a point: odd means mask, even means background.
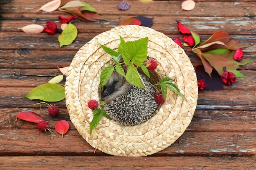
[{"label": "large green oval leaf on wood touching the hat's left side", "polygon": [[43,84],[37,86],[29,94],[26,95],[28,99],[40,99],[45,102],[58,102],[65,99],[65,89],[58,84]]}]

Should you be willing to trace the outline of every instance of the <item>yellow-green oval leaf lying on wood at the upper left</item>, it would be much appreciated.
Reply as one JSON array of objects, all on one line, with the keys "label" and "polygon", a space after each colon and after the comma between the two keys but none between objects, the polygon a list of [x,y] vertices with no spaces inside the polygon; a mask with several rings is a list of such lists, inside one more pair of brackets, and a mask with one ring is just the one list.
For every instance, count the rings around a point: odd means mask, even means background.
[{"label": "yellow-green oval leaf lying on wood at the upper left", "polygon": [[70,45],[77,36],[77,29],[76,26],[69,23],[62,31],[61,35],[58,36],[58,41],[60,42],[60,47],[63,45]]}]

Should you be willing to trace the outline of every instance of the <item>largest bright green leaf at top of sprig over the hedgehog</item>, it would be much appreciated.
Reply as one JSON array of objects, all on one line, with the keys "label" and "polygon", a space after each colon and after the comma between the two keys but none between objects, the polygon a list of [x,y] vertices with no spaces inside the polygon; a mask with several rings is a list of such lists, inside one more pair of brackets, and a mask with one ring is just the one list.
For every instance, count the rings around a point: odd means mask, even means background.
[{"label": "largest bright green leaf at top of sprig over the hedgehog", "polygon": [[136,66],[141,66],[141,64],[147,59],[147,49],[148,38],[146,37],[140,40],[126,42],[121,54],[123,58],[126,58],[126,60],[130,59]]}]

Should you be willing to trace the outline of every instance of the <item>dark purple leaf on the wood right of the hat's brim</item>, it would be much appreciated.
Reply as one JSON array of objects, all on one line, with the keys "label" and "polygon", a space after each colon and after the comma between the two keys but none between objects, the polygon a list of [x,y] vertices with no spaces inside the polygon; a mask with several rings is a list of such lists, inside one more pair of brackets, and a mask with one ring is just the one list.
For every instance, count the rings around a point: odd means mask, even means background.
[{"label": "dark purple leaf on the wood right of the hat's brim", "polygon": [[213,71],[210,77],[209,74],[205,72],[204,66],[199,65],[195,68],[195,73],[198,80],[204,79],[204,82],[206,84],[206,87],[204,90],[207,90],[207,91],[224,90],[221,77],[220,75],[218,75],[216,71]]}]

